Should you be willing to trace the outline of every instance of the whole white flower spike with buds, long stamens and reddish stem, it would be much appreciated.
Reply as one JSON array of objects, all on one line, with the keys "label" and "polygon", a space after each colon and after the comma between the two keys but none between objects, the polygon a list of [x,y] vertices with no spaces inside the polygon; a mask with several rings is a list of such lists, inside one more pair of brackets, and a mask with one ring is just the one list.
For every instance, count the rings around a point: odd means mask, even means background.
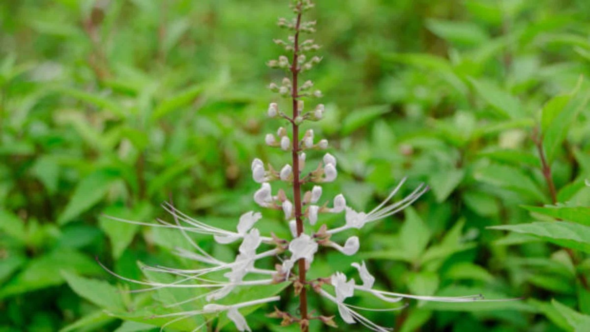
[{"label": "whole white flower spike with buds, long stamens and reddish stem", "polygon": [[[358,270],[362,284],[356,284],[354,279],[348,279],[345,274],[337,271],[325,278],[314,280],[306,278],[306,272],[312,268],[314,256],[321,246],[335,249],[348,256],[355,255],[358,252],[360,248],[358,236],[350,235],[345,243],[341,244],[330,240],[332,235],[348,230],[359,230],[366,224],[391,217],[412,204],[428,190],[428,187],[422,184],[408,196],[394,201],[394,196],[399,193],[405,183],[405,179],[402,179],[381,204],[368,212],[356,211],[348,206],[343,194],[337,194],[329,200],[322,199],[322,185],[335,181],[337,178],[337,160],[332,154],[323,151],[328,148],[328,141],[326,139],[317,140],[312,129],[305,131],[303,135],[299,134],[300,125],[303,125],[306,121],[319,121],[323,118],[325,112],[322,104],[318,104],[306,111],[303,99],[306,97],[319,97],[322,96],[322,93],[319,90],[313,92],[310,90],[313,87],[311,81],[304,82],[300,86],[298,84],[299,74],[302,71],[312,69],[322,60],[320,57],[309,57],[305,54],[318,50],[319,45],[315,44],[313,40],[300,41],[301,34],[313,33],[315,30],[315,22],[303,22],[301,20],[303,12],[310,8],[313,8],[310,0],[293,0],[296,18],[290,21],[287,19],[279,20],[279,26],[292,31],[293,34],[287,38],[287,41],[275,41],[276,44],[284,47],[291,57],[281,56],[278,60],[268,62],[270,67],[284,69],[290,74],[290,77],[285,77],[281,84],[273,83],[270,88],[276,91],[278,95],[290,98],[293,113],[287,115],[286,112],[281,111],[278,103],[270,103],[267,115],[270,118],[285,121],[291,128],[289,130],[284,126],[280,126],[276,134],[267,134],[264,141],[269,147],[288,152],[291,157],[290,162],[280,168],[265,164],[258,158],[251,163],[252,178],[255,182],[260,183],[260,188],[253,195],[254,202],[262,209],[281,211],[281,214],[284,214],[284,222],[289,224],[291,239],[280,239],[270,231],[263,234],[263,231],[256,227],[258,220],[263,218],[263,214],[258,211],[248,211],[242,214],[235,231],[221,229],[196,220],[176,210],[171,204],[165,204],[163,207],[173,216],[174,223],[159,220],[158,224],[150,224],[117,219],[127,223],[178,230],[191,243],[194,251],[177,249],[176,254],[197,262],[199,266],[204,266],[198,269],[175,269],[161,266],[145,267],[149,271],[171,274],[177,278],[175,282],[168,284],[126,279],[147,285],[150,287],[148,289],[163,287],[208,289],[207,292],[198,297],[177,303],[177,305],[186,304],[204,298],[208,304],[201,309],[160,316],[175,317],[169,324],[193,315],[225,313],[238,330],[250,331],[250,327],[248,327],[244,316],[240,314],[239,309],[278,301],[280,300],[279,296],[260,298],[232,305],[219,304],[217,301],[228,297],[236,288],[283,283],[293,285],[296,295],[299,295],[300,315],[296,317],[293,314],[277,309],[275,313],[271,314],[271,317],[283,318],[283,324],[298,323],[302,331],[307,331],[309,321],[312,319],[320,320],[329,326],[336,326],[332,316],[320,315],[313,317],[307,313],[308,290],[313,290],[320,296],[332,301],[345,323],[360,323],[375,331],[387,331],[389,329],[372,323],[358,312],[358,310],[371,309],[346,304],[346,299],[355,296],[355,292],[363,292],[389,303],[399,302],[404,298],[442,302],[465,302],[481,299],[481,295],[426,297],[380,290],[374,287],[375,278],[369,273],[364,261],[352,264]],[[306,168],[307,154],[320,154],[321,161],[317,167],[313,169]],[[282,189],[273,190],[271,183],[276,181],[286,183],[293,190],[290,193],[286,193]],[[308,190],[305,190],[306,187]],[[323,219],[322,214],[327,213],[339,214],[342,216],[342,223],[339,226],[329,228],[327,224],[321,222]],[[219,245],[231,245],[239,242],[240,245],[234,261],[225,262],[214,258],[196,244],[191,237],[192,233],[212,236]],[[274,262],[280,263],[277,263],[276,269],[272,270],[258,268],[257,265],[260,265],[257,262],[263,259],[272,259]],[[223,272],[222,280],[211,279],[212,275],[219,275],[219,272]],[[399,308],[399,305],[395,305],[389,310],[398,310]]]}]

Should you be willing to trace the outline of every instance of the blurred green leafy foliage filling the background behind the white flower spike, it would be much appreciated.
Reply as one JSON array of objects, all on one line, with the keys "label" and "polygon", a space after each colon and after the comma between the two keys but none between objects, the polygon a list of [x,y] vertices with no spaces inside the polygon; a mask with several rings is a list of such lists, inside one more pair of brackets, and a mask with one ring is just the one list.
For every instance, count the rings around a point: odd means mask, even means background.
[{"label": "blurred green leafy foliage filling the background behind the white flower spike", "polygon": [[[398,331],[587,331],[590,2],[317,2],[324,61],[305,78],[324,92],[313,128],[340,173],[324,191],[372,209],[404,176],[408,192],[432,187],[361,232],[379,286],[524,298],[368,316]],[[178,294],[121,292],[134,286],[93,258],[141,279],[138,261],[190,266],[170,253],[182,237],[100,216],[169,219],[159,204],[172,200],[233,228],[255,209],[251,160],[287,162],[263,141],[278,125],[265,87],[282,76],[265,62],[281,54],[286,5],[0,3],[0,331],[159,330],[165,321],[145,317]],[[260,223],[288,233],[278,214]],[[353,260],[328,252],[312,277]],[[293,330],[268,311],[248,317],[255,330]]]}]

